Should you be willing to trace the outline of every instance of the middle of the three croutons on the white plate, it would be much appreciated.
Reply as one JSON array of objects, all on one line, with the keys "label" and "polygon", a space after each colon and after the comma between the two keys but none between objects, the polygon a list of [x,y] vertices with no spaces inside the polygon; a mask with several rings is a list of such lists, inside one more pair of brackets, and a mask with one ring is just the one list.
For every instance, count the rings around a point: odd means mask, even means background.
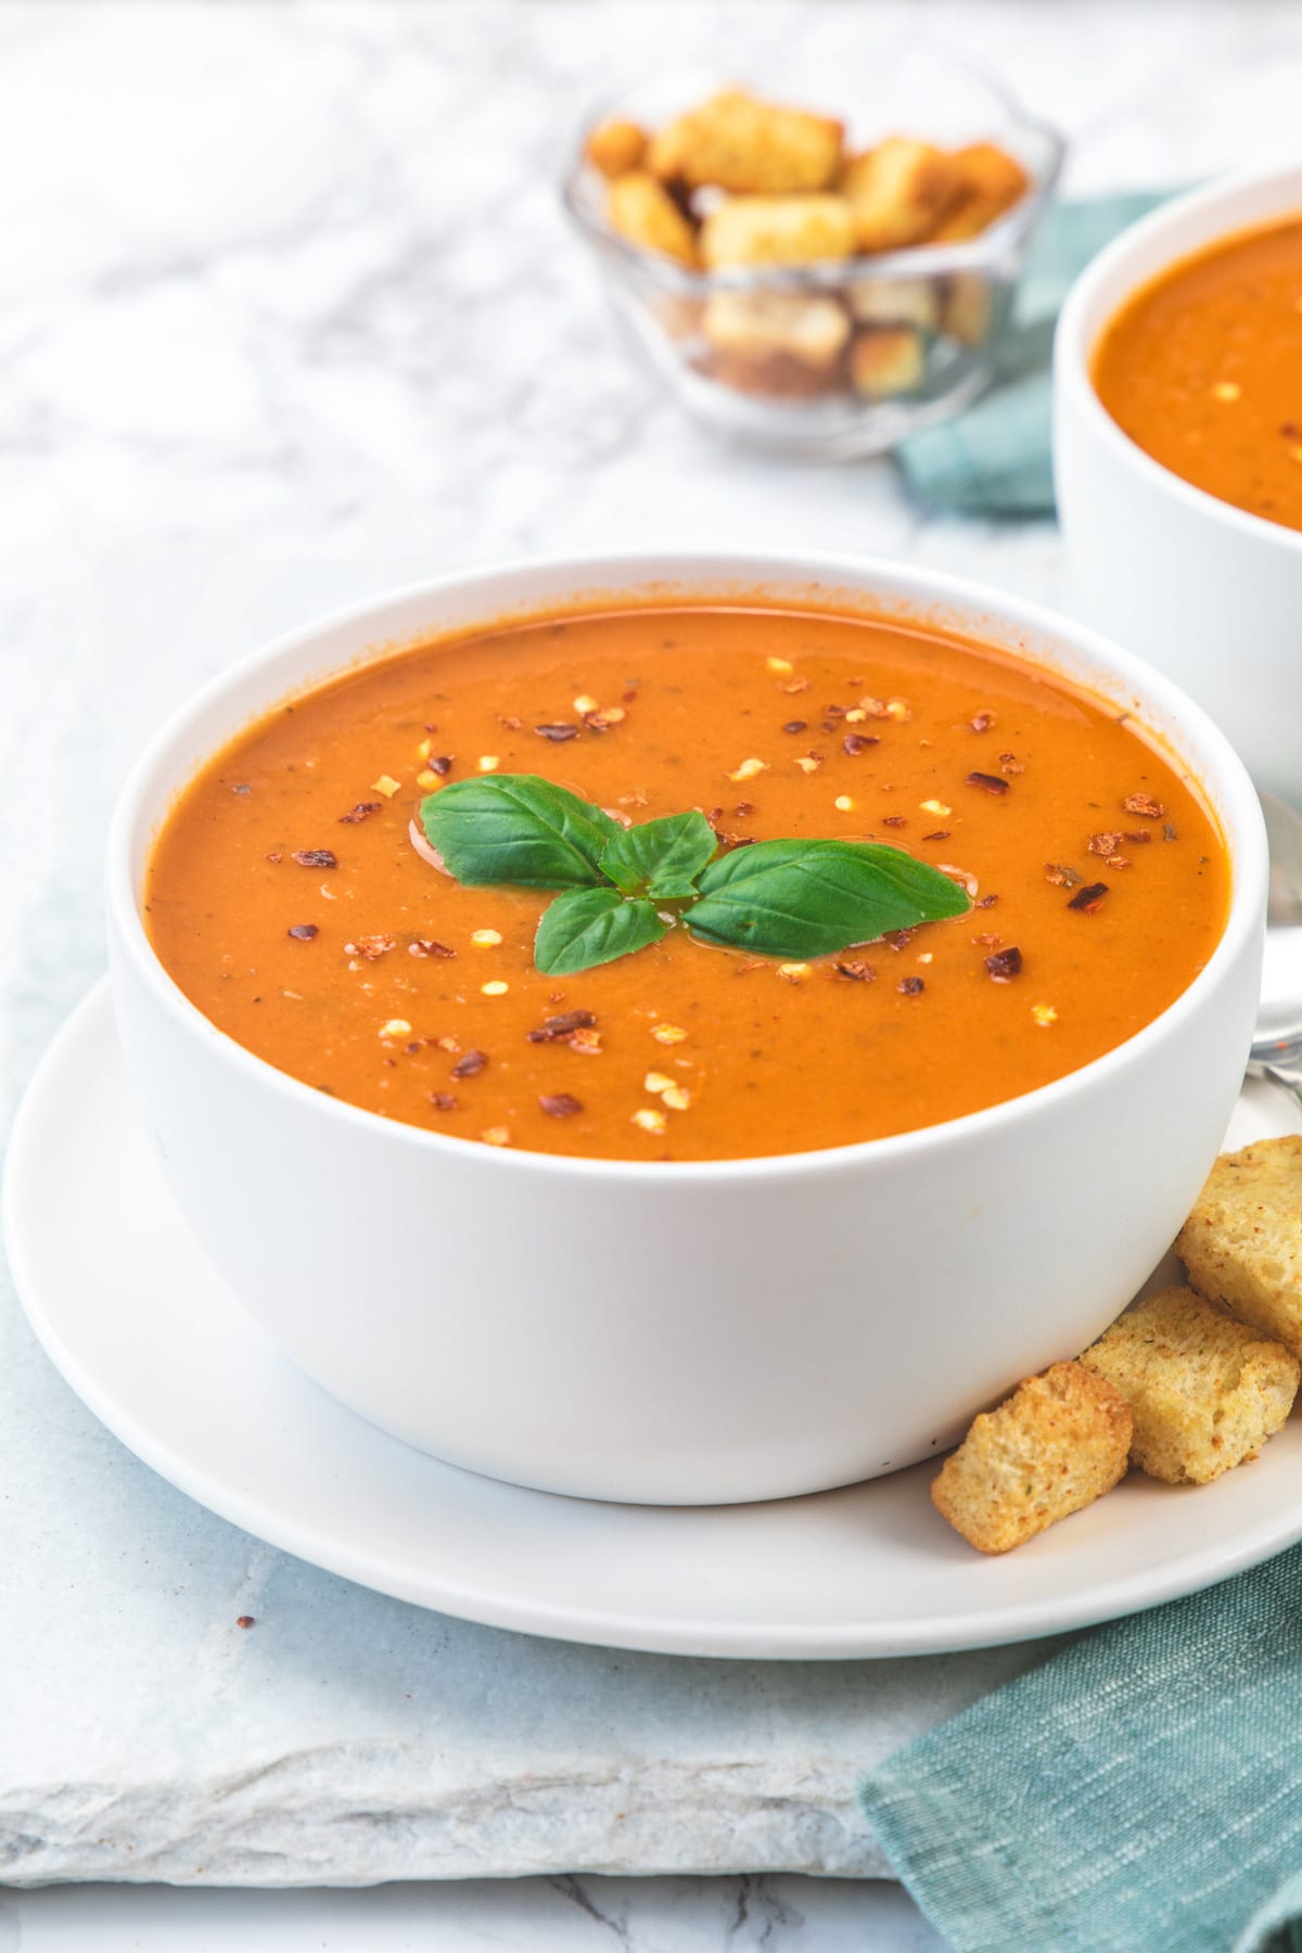
[{"label": "middle of the three croutons on the white plate", "polygon": [[1193,1289],[1163,1289],[1079,1359],[1134,1416],[1130,1459],[1167,1484],[1208,1484],[1255,1459],[1292,1410],[1302,1365]]}]

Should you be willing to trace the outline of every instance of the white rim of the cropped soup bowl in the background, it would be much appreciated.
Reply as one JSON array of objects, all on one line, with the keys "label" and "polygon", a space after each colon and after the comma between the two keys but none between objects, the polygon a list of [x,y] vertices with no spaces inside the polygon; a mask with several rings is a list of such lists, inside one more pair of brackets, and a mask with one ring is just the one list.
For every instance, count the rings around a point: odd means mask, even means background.
[{"label": "white rim of the cropped soup bowl in the background", "polygon": [[[1058,314],[1058,328],[1054,334],[1054,371],[1062,395],[1076,408],[1078,414],[1089,424],[1089,432],[1126,467],[1130,467],[1142,480],[1150,486],[1161,488],[1175,502],[1183,504],[1193,516],[1204,521],[1220,521],[1228,529],[1238,529],[1240,535],[1269,537],[1277,549],[1290,553],[1302,553],[1302,529],[1288,529],[1281,521],[1267,521],[1265,516],[1253,516],[1251,510],[1236,508],[1234,502],[1222,502],[1220,496],[1208,494],[1206,488],[1197,488],[1187,482],[1183,475],[1175,475],[1171,469],[1163,467],[1161,461],[1154,461],[1146,449],[1132,441],[1128,434],[1113,420],[1103,400],[1095,393],[1091,377],[1091,357],[1095,344],[1107,324],[1117,316],[1117,312],[1146,285],[1161,277],[1163,271],[1181,264],[1187,258],[1197,258],[1200,250],[1210,246],[1214,238],[1208,238],[1204,246],[1171,246],[1165,242],[1171,229],[1179,229],[1187,217],[1202,217],[1204,213],[1214,213],[1226,203],[1234,203],[1247,191],[1269,193],[1273,189],[1282,189],[1286,186],[1296,186],[1298,205],[1296,215],[1302,217],[1302,164],[1290,164],[1284,170],[1261,172],[1238,172],[1236,176],[1218,178],[1204,189],[1191,189],[1183,197],[1171,197],[1169,203],[1161,203],[1148,217],[1136,219],[1136,223],[1126,225],[1120,236],[1113,238],[1111,244],[1091,258],[1089,266],[1072,285],[1068,299]],[[1273,217],[1263,217],[1259,223],[1286,223],[1288,219],[1275,213]],[[1238,232],[1257,229],[1257,219],[1240,219],[1238,223],[1226,225],[1222,232],[1224,238],[1232,238]],[[1085,338],[1085,320],[1099,301],[1099,289],[1109,285],[1111,279],[1124,270],[1132,256],[1148,254],[1148,262],[1130,279],[1124,297],[1117,299],[1101,326],[1093,328],[1093,336]]]}]

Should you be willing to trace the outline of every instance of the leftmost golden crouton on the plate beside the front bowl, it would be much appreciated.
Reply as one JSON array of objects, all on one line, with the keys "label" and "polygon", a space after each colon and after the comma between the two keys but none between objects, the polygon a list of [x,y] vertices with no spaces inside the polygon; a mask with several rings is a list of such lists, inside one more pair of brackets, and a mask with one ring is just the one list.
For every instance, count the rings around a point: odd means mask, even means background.
[{"label": "leftmost golden crouton on the plate beside the front bowl", "polygon": [[1130,1406],[1105,1377],[1054,1363],[982,1412],[941,1465],[931,1502],[982,1553],[1007,1553],[1124,1476]]}]

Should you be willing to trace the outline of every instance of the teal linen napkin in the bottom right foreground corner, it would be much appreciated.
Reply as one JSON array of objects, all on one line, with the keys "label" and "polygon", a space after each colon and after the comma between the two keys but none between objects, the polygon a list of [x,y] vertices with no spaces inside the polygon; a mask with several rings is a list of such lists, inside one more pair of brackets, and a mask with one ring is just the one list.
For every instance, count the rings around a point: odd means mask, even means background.
[{"label": "teal linen napkin in the bottom right foreground corner", "polygon": [[1302,1547],[1083,1637],[861,1805],[958,1953],[1302,1953]]}]

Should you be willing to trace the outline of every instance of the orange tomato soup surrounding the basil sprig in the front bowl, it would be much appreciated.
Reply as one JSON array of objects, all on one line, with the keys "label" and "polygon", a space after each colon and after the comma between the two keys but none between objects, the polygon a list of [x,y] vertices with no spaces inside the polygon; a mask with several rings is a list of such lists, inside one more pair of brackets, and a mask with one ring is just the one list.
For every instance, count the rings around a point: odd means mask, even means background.
[{"label": "orange tomato soup surrounding the basil sprig in the front bowl", "polygon": [[[509,773],[621,824],[699,809],[724,852],[888,842],[970,906],[812,961],[670,928],[545,976],[550,896],[463,887],[412,840],[429,793]],[[1208,809],[1124,713],[933,631],[675,605],[443,639],[287,701],[183,789],[144,908],[193,1004],[320,1092],[656,1162],[839,1146],[1048,1084],[1187,988],[1228,893]]]}]

